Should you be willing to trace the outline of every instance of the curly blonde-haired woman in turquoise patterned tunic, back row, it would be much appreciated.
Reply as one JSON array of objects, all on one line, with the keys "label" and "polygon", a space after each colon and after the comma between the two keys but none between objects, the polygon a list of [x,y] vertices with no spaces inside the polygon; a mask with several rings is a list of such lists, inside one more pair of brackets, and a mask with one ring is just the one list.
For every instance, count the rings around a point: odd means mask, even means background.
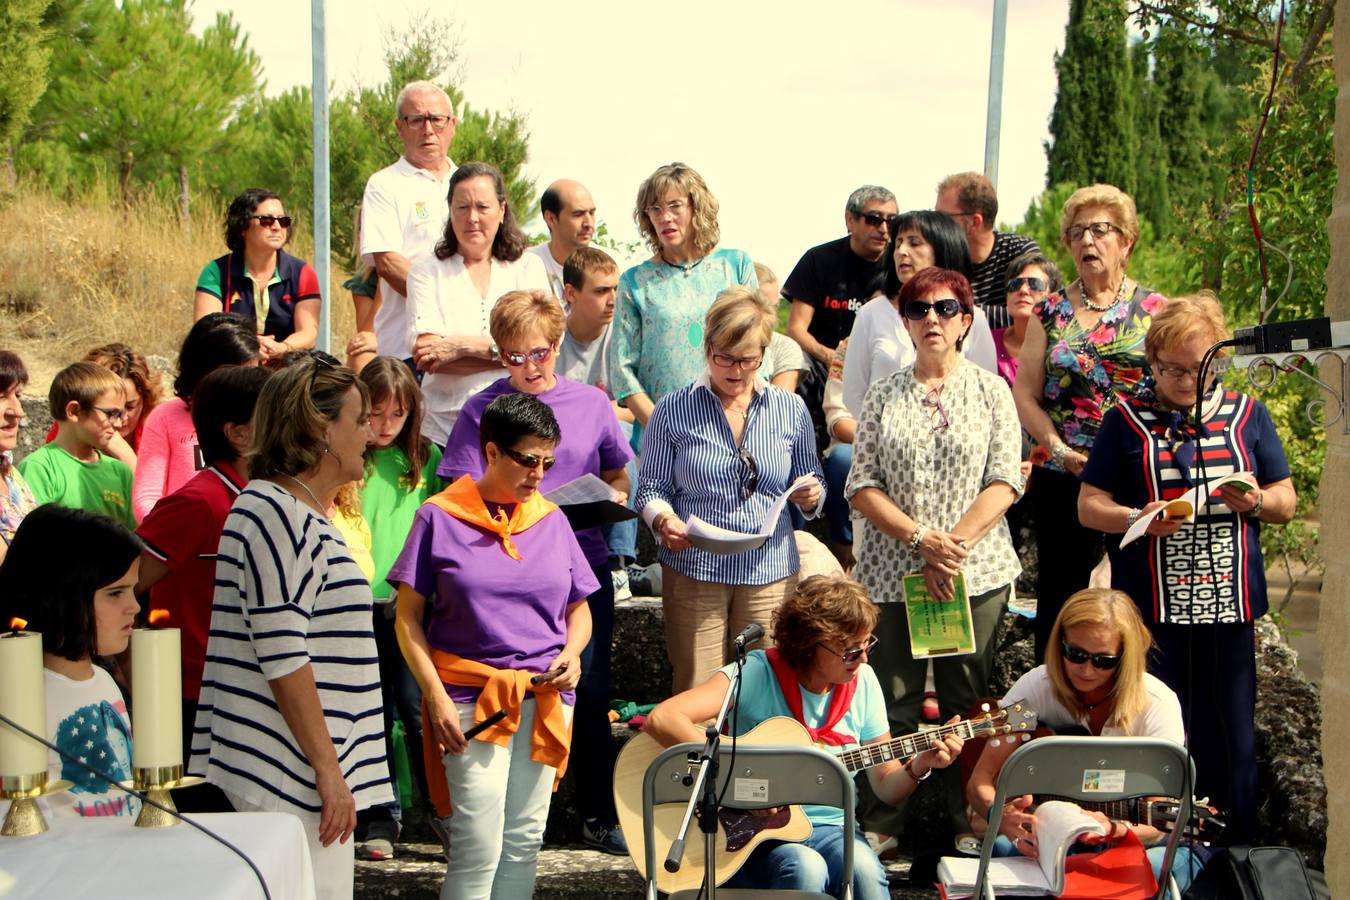
[{"label": "curly blonde-haired woman in turquoise patterned tunic, back row", "polygon": [[618,279],[609,345],[610,391],[637,418],[634,447],[656,401],[703,368],[703,314],[713,300],[737,285],[759,289],[749,255],[717,247],[717,209],[703,177],[682,162],[637,189],[633,220],[652,258]]}]

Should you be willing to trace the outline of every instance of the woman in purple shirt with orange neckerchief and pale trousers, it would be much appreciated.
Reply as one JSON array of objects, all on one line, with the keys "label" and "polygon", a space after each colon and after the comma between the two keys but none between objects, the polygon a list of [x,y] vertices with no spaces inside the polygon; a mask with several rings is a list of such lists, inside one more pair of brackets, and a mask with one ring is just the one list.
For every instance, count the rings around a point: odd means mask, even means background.
[{"label": "woman in purple shirt with orange neckerchief and pale trousers", "polygon": [[540,494],[560,434],[554,410],[529,393],[490,402],[478,429],[482,474],[417,510],[389,571],[398,645],[423,692],[427,779],[437,808],[447,789],[455,806],[443,899],[531,896],[567,768],[591,633],[586,598],[609,576],[595,578],[567,517]]}]

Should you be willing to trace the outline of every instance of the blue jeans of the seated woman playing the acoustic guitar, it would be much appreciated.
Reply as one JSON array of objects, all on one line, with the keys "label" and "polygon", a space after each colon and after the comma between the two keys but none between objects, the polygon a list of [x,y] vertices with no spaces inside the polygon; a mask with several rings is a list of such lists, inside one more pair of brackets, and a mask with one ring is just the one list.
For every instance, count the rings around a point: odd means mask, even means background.
[{"label": "blue jeans of the seated woman playing the acoustic guitar", "polygon": [[[690,839],[702,839],[693,834]],[[844,826],[818,824],[801,843],[765,841],[749,855],[741,870],[726,881],[728,888],[775,891],[825,891],[844,896]],[[872,853],[861,831],[853,834],[855,900],[890,900],[891,888],[882,861]]]}]

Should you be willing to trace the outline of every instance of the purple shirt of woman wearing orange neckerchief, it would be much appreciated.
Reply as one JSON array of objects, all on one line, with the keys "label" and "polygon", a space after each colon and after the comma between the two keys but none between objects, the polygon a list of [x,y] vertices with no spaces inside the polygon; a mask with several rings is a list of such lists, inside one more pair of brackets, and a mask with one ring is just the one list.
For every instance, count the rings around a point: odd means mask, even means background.
[{"label": "purple shirt of woman wearing orange neckerchief", "polygon": [[[599,583],[562,511],[512,534],[521,559],[477,525],[424,503],[413,519],[389,583],[406,583],[431,606],[427,642],[498,669],[544,672],[567,642],[567,607]],[[446,685],[455,703],[478,688]],[[563,695],[567,703],[574,695]]]}]

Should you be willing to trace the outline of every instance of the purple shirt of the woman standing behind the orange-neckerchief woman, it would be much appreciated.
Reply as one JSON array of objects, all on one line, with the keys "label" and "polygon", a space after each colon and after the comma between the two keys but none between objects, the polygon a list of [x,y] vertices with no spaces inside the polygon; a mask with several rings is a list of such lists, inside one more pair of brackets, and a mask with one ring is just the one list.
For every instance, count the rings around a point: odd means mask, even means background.
[{"label": "purple shirt of the woman standing behind the orange-neckerchief woman", "polygon": [[[514,394],[510,381],[502,378],[471,397],[460,410],[455,426],[446,440],[446,452],[436,474],[451,482],[460,475],[478,479],[483,475],[483,452],[478,445],[483,410],[502,394]],[[587,472],[599,476],[616,468],[624,468],[633,459],[633,451],[618,428],[614,407],[598,387],[570,382],[558,376],[552,390],[536,394],[548,403],[558,418],[563,437],[558,441],[554,467],[544,474],[539,490],[547,494],[555,487],[580,478]],[[609,560],[605,534],[597,528],[583,528],[576,532],[576,540],[591,565],[602,567]]]}]

